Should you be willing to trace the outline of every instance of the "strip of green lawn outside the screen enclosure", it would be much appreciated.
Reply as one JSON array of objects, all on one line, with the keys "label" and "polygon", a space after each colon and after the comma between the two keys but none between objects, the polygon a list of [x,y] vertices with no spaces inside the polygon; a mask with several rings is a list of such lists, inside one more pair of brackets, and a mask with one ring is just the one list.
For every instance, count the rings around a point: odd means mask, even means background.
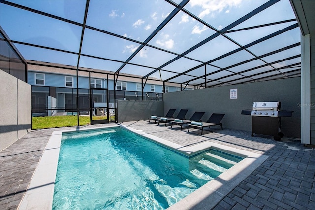
[{"label": "strip of green lawn outside the screen enclosure", "polygon": [[[113,117],[113,116],[112,116]],[[106,120],[104,116],[93,116],[93,120]],[[77,126],[76,115],[32,117],[32,129]],[[90,116],[79,116],[79,125],[90,125]]]}]

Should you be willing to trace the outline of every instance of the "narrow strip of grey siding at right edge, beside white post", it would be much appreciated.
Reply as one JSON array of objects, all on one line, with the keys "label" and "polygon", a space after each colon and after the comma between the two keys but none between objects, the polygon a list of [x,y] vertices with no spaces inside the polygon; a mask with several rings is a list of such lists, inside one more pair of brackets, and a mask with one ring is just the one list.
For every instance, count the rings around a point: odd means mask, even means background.
[{"label": "narrow strip of grey siding at right edge, beside white post", "polygon": [[[313,35],[313,36],[312,36]],[[311,136],[310,144],[315,145],[315,34],[310,35],[311,53]]]}]

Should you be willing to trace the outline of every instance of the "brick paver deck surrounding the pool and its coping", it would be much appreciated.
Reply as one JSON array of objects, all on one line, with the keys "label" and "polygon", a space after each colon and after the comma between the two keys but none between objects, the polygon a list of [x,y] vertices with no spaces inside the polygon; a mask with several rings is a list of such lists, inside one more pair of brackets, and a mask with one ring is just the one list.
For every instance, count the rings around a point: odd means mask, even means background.
[{"label": "brick paver deck surrounding the pool and its coping", "polygon": [[[315,210],[315,150],[303,147],[297,140],[275,141],[219,127],[206,129],[200,136],[195,129],[187,133],[187,129],[170,129],[148,121],[123,124],[182,146],[210,141],[269,156],[214,209]],[[0,152],[1,210],[17,209],[51,133],[61,129],[73,127],[34,130]]]}]

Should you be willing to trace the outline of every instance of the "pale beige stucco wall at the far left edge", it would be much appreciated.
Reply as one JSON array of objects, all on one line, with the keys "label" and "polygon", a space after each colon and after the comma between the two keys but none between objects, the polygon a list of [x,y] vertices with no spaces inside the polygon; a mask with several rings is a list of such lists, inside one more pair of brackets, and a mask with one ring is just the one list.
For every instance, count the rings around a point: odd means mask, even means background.
[{"label": "pale beige stucco wall at the far left edge", "polygon": [[31,130],[31,85],[0,70],[0,150]]}]

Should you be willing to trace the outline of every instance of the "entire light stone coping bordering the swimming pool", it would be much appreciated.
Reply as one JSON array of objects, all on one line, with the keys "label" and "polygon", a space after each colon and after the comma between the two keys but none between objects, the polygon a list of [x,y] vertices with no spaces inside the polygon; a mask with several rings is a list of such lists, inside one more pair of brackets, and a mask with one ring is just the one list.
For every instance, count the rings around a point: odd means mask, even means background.
[{"label": "entire light stone coping bordering the swimming pool", "polygon": [[[167,210],[203,210],[214,207],[227,193],[232,191],[242,180],[248,177],[268,156],[261,155],[246,150],[240,150],[221,144],[202,142],[197,145],[185,147],[162,138],[147,134],[142,130],[133,129],[125,125],[110,125],[97,128],[77,128],[71,130],[54,131],[45,147],[42,157],[33,174],[30,185],[20,202],[18,210],[41,209],[51,210],[53,205],[55,178],[57,173],[60,143],[62,134],[65,132],[109,129],[122,127],[130,130],[147,139],[157,142],[171,150],[178,151],[184,155],[191,156],[197,152],[207,150],[211,147],[220,148],[220,150],[228,151],[229,153],[239,156],[247,156],[238,164],[231,167],[227,172],[222,173],[214,180],[201,186],[196,191],[192,192],[181,201],[167,208]],[[242,172],[242,173],[239,173]]]}]

